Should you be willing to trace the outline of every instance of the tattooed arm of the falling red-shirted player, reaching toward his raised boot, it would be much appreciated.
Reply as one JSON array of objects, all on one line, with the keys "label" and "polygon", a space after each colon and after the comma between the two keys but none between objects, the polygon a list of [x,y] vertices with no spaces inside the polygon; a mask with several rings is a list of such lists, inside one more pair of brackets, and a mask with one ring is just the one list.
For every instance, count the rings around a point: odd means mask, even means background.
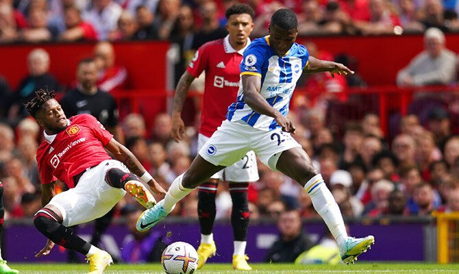
[{"label": "tattooed arm of the falling red-shirted player, reaching toward his raised boot", "polygon": [[[129,149],[127,149],[125,146],[121,145],[119,142],[114,140],[114,138],[112,138],[112,140],[110,140],[110,142],[108,142],[108,144],[105,147],[106,149],[108,149],[108,151],[113,153],[116,160],[123,162],[123,164],[125,164],[125,166],[127,166],[127,168],[129,169],[129,171],[132,171],[132,173],[134,173],[138,177],[142,177],[142,175],[147,173],[147,171],[142,166],[142,164],[140,164],[136,156],[131,151],[129,151]],[[160,184],[158,184],[158,182],[156,182],[156,180],[153,179],[151,175],[149,175],[149,177],[150,179],[147,182],[147,184],[150,186],[151,190],[157,194],[166,195],[166,190],[164,190],[164,188],[162,188],[162,186],[160,186]]]}]

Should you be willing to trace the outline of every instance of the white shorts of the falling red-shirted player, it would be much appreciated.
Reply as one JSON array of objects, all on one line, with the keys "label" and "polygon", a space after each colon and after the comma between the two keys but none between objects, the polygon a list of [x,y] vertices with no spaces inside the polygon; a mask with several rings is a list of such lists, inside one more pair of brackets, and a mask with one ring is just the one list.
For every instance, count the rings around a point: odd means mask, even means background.
[{"label": "white shorts of the falling red-shirted player", "polygon": [[87,223],[109,212],[126,194],[121,188],[109,186],[106,172],[117,168],[129,172],[129,169],[117,160],[105,160],[86,171],[75,188],[55,195],[49,202],[62,213],[62,225],[72,226]]}]

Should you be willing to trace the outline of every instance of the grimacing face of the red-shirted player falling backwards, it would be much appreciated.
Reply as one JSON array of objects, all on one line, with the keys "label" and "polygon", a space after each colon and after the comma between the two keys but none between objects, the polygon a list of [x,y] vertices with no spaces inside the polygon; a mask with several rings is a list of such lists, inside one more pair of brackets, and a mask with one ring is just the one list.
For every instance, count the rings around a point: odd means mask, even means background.
[{"label": "grimacing face of the red-shirted player falling backwards", "polygon": [[55,99],[50,99],[42,105],[36,121],[48,134],[62,132],[68,125],[67,117]]}]

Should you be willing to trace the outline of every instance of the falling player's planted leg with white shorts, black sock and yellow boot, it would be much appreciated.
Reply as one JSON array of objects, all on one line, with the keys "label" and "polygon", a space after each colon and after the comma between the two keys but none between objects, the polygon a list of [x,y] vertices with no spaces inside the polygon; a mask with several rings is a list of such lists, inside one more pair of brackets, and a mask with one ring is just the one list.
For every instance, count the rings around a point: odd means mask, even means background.
[{"label": "falling player's planted leg with white shorts, black sock and yellow boot", "polygon": [[113,262],[112,257],[79,238],[69,227],[105,215],[125,195],[125,190],[106,182],[106,174],[113,167],[123,169],[118,161],[109,160],[86,171],[75,188],[55,195],[34,217],[35,226],[49,240],[85,255],[90,273],[102,273]]}]

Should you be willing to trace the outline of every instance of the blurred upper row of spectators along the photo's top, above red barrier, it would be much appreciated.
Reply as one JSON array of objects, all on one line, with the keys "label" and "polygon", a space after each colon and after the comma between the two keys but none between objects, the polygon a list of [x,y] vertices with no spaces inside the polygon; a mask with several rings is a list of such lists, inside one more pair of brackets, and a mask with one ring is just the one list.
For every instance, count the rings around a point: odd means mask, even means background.
[{"label": "blurred upper row of spectators along the photo's top, above red barrier", "polygon": [[[0,43],[182,40],[197,49],[225,32],[224,11],[237,0],[2,0]],[[295,10],[300,35],[419,33],[459,30],[456,1],[247,0],[253,36],[267,32],[278,8]]]}]

